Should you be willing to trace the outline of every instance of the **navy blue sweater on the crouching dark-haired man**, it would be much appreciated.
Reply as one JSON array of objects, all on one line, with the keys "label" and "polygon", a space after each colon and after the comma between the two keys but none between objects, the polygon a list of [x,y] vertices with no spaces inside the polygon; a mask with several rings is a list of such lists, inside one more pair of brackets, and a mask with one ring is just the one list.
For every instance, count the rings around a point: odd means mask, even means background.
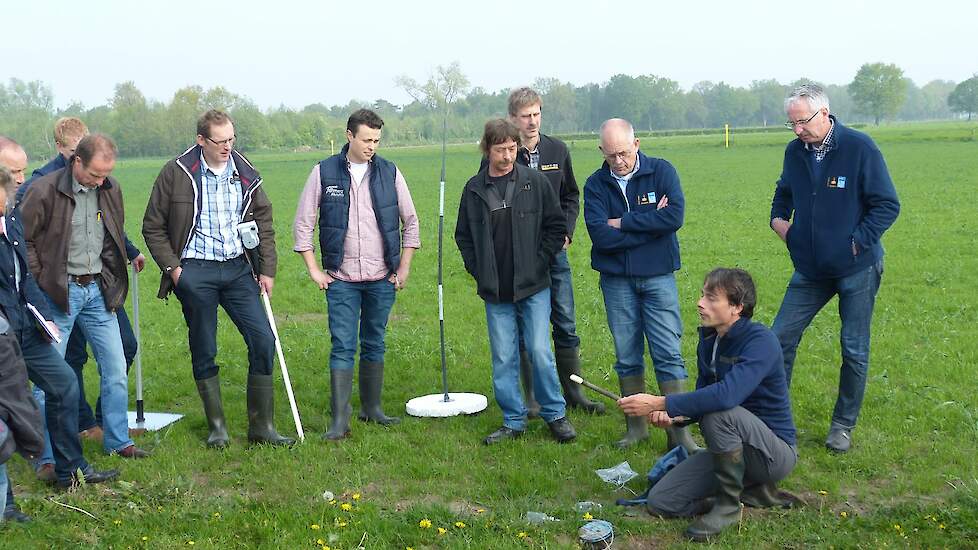
[{"label": "navy blue sweater on the crouching dark-haired man", "polygon": [[667,395],[666,413],[699,420],[741,406],[794,445],[795,423],[777,336],[760,323],[740,319],[720,338],[714,359],[716,330],[701,327],[699,333],[696,391]]}]

